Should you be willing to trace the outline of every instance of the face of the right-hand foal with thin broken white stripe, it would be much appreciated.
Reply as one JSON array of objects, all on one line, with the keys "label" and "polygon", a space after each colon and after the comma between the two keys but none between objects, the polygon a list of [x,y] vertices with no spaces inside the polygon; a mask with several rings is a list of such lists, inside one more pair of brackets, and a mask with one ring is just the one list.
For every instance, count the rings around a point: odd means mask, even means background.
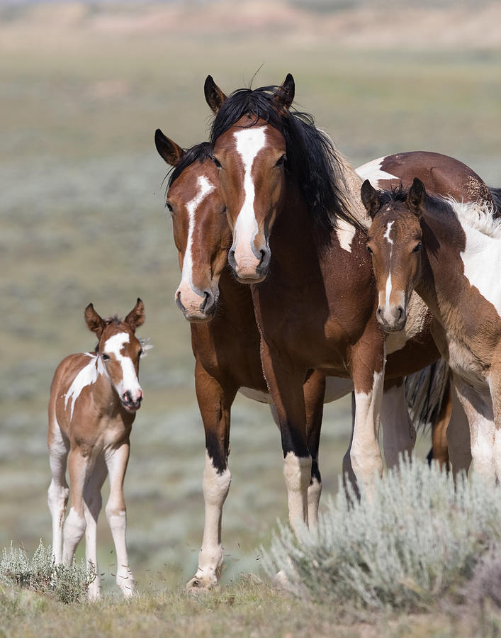
[{"label": "face of the right-hand foal with thin broken white stripe", "polygon": [[[404,328],[410,295],[420,280],[422,229],[408,198],[389,203],[379,201],[375,203],[377,206],[367,234],[367,249],[378,288],[376,318],[383,330],[393,332]],[[370,206],[368,212],[374,212]]]}]

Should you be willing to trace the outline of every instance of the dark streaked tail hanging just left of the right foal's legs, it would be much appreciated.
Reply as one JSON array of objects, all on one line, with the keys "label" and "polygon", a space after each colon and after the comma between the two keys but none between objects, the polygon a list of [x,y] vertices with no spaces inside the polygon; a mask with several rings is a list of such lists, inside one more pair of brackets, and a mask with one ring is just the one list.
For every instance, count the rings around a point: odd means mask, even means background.
[{"label": "dark streaked tail hanging just left of the right foal's legs", "polygon": [[449,366],[444,359],[405,378],[405,399],[416,430],[434,427],[439,421],[449,381]]}]

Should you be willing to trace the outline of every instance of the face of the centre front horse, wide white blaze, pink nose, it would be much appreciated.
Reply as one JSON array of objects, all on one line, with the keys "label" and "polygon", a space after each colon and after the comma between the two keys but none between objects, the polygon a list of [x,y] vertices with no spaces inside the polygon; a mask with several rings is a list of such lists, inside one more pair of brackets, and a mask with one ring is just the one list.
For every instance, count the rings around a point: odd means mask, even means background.
[{"label": "face of the centre front horse, wide white blaze, pink nose", "polygon": [[[269,235],[285,182],[286,142],[253,116],[240,118],[215,142],[220,193],[233,242],[228,262],[239,281],[256,284],[268,273]],[[249,125],[251,124],[251,125]]]}]

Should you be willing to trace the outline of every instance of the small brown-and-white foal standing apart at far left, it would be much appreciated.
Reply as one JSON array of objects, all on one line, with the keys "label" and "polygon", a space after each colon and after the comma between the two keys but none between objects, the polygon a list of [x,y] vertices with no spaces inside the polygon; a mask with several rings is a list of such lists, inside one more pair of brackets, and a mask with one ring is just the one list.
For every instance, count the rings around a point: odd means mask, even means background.
[{"label": "small brown-and-white foal standing apart at far left", "polygon": [[[49,447],[52,481],[48,504],[52,515],[52,552],[57,563],[71,564],[85,534],[86,561],[96,578],[89,598],[100,595],[96,528],[101,510],[101,487],[110,476],[106,517],[116,548],[116,582],[125,597],[135,595],[125,545],[123,480],[129,459],[129,437],[142,389],[137,379],[142,342],[135,330],[145,321],[138,298],[125,320],[101,318],[94,306],[85,309],[89,330],[98,337],[95,352],[70,354],[57,366],[49,401]],[[66,466],[69,466],[69,488]],[[68,496],[72,507],[64,522]]]}]

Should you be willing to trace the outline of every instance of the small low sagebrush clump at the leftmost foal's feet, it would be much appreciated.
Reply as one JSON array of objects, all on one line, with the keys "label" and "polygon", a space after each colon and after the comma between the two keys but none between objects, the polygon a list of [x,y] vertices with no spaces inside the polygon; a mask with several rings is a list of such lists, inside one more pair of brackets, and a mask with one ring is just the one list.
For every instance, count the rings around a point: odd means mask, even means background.
[{"label": "small low sagebrush clump at the leftmost foal's feet", "polygon": [[55,596],[62,603],[76,603],[86,598],[87,588],[96,571],[82,560],[72,566],[57,565],[50,547],[42,541],[31,561],[23,549],[3,549],[0,559],[0,582],[18,585]]}]

